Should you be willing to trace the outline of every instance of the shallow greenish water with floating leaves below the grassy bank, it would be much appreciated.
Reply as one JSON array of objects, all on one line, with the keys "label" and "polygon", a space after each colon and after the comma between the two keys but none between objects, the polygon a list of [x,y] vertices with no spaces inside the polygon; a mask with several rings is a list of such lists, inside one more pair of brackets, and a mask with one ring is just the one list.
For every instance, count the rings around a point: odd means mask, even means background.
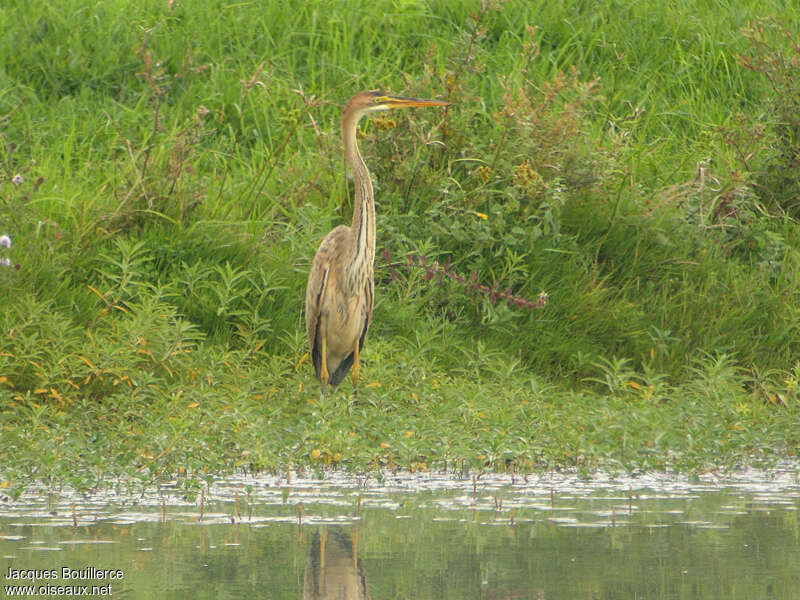
[{"label": "shallow greenish water with floating leaves below the grassy bank", "polygon": [[0,503],[0,585],[40,597],[791,599],[799,513],[796,465],[694,479],[242,476],[196,502],[169,488],[30,490]]}]

